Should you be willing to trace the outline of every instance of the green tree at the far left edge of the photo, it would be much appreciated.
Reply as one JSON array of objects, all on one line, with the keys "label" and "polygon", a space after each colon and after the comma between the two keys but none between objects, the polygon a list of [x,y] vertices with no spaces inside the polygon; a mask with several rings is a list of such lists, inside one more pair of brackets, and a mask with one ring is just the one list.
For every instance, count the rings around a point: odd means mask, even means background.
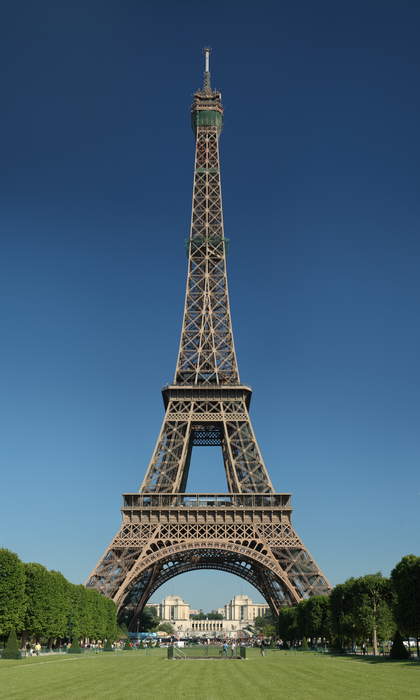
[{"label": "green tree at the far left edge of the photo", "polygon": [[24,565],[17,554],[0,549],[0,636],[23,629],[26,605]]}]

